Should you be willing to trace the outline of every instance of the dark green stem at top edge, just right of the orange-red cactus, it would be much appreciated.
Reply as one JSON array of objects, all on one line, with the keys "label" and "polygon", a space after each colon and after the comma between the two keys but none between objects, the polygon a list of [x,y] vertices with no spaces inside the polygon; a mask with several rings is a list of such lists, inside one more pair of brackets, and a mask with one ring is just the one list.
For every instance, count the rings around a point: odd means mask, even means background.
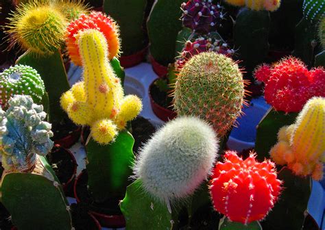
[{"label": "dark green stem at top edge, just right of the orange-red cactus", "polygon": [[143,30],[146,0],[106,0],[104,12],[117,21],[121,29],[122,55],[131,55],[145,48]]}]

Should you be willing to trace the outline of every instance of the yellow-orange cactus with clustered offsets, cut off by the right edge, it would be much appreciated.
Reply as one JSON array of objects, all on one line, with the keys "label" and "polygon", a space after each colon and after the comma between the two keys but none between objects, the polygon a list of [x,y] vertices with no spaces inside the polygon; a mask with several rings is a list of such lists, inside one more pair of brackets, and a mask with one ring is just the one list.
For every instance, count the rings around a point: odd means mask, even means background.
[{"label": "yellow-orange cactus with clustered offsets, cut off by the right edge", "polygon": [[296,123],[282,127],[270,155],[277,164],[287,164],[296,175],[323,177],[325,154],[325,99],[313,97],[298,115]]}]

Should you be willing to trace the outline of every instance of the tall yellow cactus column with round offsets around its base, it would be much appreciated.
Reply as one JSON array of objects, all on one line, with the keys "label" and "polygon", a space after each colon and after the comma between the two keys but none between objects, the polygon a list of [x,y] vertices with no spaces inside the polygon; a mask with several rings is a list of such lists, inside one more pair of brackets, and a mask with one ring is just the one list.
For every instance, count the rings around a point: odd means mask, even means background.
[{"label": "tall yellow cactus column with round offsets around its base", "polygon": [[141,100],[123,88],[108,61],[106,38],[96,29],[85,29],[77,36],[84,81],[62,94],[61,105],[71,120],[89,125],[91,136],[100,144],[115,139],[128,120],[141,112]]}]

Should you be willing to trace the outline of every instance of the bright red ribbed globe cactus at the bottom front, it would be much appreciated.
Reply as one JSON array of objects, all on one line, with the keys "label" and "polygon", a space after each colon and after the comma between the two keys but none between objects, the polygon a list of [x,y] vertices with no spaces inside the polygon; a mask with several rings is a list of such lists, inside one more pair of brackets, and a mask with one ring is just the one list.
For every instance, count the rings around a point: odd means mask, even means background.
[{"label": "bright red ribbed globe cactus at the bottom front", "polygon": [[253,153],[243,160],[227,151],[224,163],[216,164],[210,185],[215,209],[243,224],[263,219],[280,193],[282,181],[276,179],[274,167],[269,160],[256,162]]}]

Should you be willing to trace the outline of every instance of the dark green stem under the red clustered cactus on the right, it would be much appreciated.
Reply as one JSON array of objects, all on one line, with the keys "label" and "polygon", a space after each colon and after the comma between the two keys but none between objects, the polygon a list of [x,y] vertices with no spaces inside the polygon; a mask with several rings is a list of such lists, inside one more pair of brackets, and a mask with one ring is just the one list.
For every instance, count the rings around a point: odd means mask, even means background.
[{"label": "dark green stem under the red clustered cactus on the right", "polygon": [[256,159],[263,162],[265,158],[269,159],[269,151],[278,142],[278,131],[285,125],[291,125],[295,122],[298,113],[285,113],[269,109],[257,126],[255,150]]}]

